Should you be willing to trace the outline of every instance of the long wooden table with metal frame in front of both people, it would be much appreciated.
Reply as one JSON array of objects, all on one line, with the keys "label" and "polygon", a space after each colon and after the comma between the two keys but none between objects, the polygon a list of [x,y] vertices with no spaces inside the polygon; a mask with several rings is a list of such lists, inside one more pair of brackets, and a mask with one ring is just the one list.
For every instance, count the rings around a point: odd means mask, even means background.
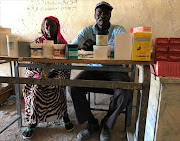
[{"label": "long wooden table with metal frame in front of both people", "polygon": [[[61,85],[61,86],[76,86],[76,87],[94,87],[94,88],[116,88],[116,89],[134,89],[142,90],[142,96],[140,101],[140,108],[138,113],[138,123],[136,126],[137,140],[143,141],[145,134],[147,106],[149,99],[149,88],[150,88],[150,64],[154,64],[153,61],[149,62],[135,62],[125,60],[88,60],[88,59],[47,59],[47,58],[12,58],[12,57],[0,57],[0,60],[13,61],[15,77],[0,77],[0,83],[14,83],[16,93],[16,106],[17,106],[17,117],[7,127],[14,122],[18,121],[18,126],[22,126],[21,117],[21,98],[19,84],[39,84],[39,85]],[[40,64],[29,64],[27,62],[39,62]],[[142,82],[119,82],[119,81],[94,81],[94,80],[58,80],[47,78],[47,74],[51,68],[54,69],[78,69],[78,70],[100,70],[100,71],[122,71],[122,68],[114,66],[103,66],[103,67],[88,67],[88,66],[73,66],[73,65],[59,65],[55,63],[66,63],[66,64],[136,64],[142,68],[140,74],[143,78]],[[42,78],[23,78],[19,76],[19,67],[39,67],[42,68]],[[7,127],[3,128],[3,132]],[[0,133],[1,133],[0,132]]]}]

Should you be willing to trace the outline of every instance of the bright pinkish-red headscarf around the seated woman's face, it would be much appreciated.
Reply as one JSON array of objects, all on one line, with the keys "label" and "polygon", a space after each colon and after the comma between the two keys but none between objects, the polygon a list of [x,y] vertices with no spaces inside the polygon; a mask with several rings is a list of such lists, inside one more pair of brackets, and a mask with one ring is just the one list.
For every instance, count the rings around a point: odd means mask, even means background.
[{"label": "bright pinkish-red headscarf around the seated woman's face", "polygon": [[59,38],[59,41],[60,41],[59,44],[67,44],[67,41],[64,39],[64,37],[60,33],[59,20],[56,17],[53,17],[53,16],[48,16],[48,17],[45,17],[43,19],[43,22],[42,22],[42,25],[41,25],[42,38],[39,38],[37,40],[37,42],[43,43],[43,40],[48,40],[47,37],[46,37],[45,31],[44,31],[44,23],[45,23],[45,20],[48,19],[48,18],[53,19],[57,23],[57,26],[58,26],[58,28],[57,28],[57,30],[58,30],[57,38]]}]

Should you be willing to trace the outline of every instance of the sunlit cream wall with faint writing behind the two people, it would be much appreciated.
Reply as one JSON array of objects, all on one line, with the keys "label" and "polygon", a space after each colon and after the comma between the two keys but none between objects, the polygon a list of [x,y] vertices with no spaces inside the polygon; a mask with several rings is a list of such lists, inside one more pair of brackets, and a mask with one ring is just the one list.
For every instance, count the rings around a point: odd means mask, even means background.
[{"label": "sunlit cream wall with faint writing behind the two people", "polygon": [[[56,16],[70,43],[80,29],[94,24],[100,0],[0,0],[0,25],[33,40],[45,16]],[[151,26],[153,38],[180,37],[180,0],[107,0],[113,7],[111,23],[131,27]]]}]

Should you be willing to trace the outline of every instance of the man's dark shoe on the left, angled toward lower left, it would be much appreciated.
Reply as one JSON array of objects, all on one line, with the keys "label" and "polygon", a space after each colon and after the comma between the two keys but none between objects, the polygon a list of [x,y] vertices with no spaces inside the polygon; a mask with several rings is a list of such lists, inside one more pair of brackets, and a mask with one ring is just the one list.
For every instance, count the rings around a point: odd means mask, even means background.
[{"label": "man's dark shoe on the left, angled toward lower left", "polygon": [[88,140],[95,132],[99,131],[99,129],[98,120],[95,124],[88,123],[87,127],[77,134],[77,141]]}]

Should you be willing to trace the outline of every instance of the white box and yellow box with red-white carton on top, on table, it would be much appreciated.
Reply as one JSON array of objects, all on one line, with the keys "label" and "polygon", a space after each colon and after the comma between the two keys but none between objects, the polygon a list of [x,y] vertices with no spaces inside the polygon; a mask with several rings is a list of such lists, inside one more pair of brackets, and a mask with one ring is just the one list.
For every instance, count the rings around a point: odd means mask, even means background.
[{"label": "white box and yellow box with red-white carton on top, on table", "polygon": [[131,28],[130,33],[116,33],[116,60],[150,61],[151,60],[151,27]]}]

